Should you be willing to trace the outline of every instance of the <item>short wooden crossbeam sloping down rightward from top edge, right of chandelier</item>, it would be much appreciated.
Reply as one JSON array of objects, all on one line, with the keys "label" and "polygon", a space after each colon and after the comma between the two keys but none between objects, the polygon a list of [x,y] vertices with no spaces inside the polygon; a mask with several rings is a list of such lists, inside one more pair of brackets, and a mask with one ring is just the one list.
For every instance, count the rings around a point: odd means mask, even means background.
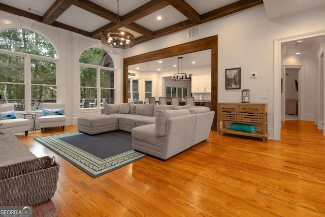
[{"label": "short wooden crossbeam sloping down rightward from top edge, right of chandelier", "polygon": [[199,24],[201,22],[200,14],[185,2],[185,0],[168,0],[168,2],[193,23]]}]

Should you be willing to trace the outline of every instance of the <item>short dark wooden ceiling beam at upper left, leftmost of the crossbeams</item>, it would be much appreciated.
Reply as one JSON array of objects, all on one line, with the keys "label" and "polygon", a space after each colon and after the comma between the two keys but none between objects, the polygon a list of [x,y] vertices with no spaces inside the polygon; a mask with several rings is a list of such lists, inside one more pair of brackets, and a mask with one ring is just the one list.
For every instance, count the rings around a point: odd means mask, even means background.
[{"label": "short dark wooden ceiling beam at upper left, leftmost of the crossbeams", "polygon": [[51,25],[64,11],[72,5],[71,1],[57,0],[51,5],[51,7],[43,15],[43,23]]}]

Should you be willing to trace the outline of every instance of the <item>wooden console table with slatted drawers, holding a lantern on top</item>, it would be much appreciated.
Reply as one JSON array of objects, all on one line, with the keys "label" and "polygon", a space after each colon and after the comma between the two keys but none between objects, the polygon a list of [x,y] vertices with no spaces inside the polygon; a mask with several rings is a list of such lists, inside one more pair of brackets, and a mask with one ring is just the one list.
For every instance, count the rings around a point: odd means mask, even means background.
[{"label": "wooden console table with slatted drawers, holding a lantern on top", "polygon": [[[254,125],[256,133],[231,130],[231,123]],[[268,138],[268,104],[218,103],[218,132]]]}]

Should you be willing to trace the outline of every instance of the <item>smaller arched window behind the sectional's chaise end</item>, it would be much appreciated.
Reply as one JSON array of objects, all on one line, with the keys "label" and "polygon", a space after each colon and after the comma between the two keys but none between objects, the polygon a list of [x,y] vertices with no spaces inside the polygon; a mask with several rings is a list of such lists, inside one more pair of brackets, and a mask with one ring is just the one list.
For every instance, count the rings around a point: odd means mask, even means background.
[{"label": "smaller arched window behind the sectional's chaise end", "polygon": [[80,58],[80,108],[114,103],[114,62],[104,50],[90,48]]}]

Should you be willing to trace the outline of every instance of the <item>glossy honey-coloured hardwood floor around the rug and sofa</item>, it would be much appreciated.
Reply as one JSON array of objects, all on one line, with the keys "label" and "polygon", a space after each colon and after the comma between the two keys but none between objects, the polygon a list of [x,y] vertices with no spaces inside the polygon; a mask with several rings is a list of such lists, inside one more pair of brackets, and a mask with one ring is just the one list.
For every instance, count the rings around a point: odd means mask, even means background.
[{"label": "glossy honey-coloured hardwood floor around the rug and sofa", "polygon": [[325,137],[312,121],[282,128],[281,141],[266,142],[211,132],[166,162],[146,157],[98,178],[34,140],[59,128],[16,135],[60,164],[56,193],[34,217],[325,216]]}]

